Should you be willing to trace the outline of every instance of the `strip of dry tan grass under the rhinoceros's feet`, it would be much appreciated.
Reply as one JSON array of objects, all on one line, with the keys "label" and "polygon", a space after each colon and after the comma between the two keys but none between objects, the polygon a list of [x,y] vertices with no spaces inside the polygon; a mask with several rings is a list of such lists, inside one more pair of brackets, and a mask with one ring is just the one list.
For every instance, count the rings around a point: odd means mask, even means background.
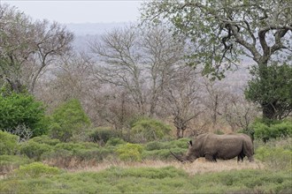
[{"label": "strip of dry tan grass under the rhinoceros's feet", "polygon": [[175,167],[185,170],[189,175],[203,174],[208,172],[221,172],[233,169],[262,169],[264,164],[260,161],[244,161],[237,163],[237,160],[218,160],[218,162],[210,162],[204,159],[198,159],[193,163],[181,163],[178,161],[162,161],[162,160],[144,160],[142,162],[102,162],[96,166],[88,166],[84,168],[69,168],[69,172],[98,172],[106,168],[164,168]]}]

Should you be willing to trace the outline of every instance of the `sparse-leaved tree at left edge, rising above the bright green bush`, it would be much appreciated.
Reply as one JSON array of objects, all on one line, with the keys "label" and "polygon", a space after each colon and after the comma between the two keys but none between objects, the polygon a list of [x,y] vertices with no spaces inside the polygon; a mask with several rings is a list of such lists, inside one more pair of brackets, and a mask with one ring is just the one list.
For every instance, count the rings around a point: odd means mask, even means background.
[{"label": "sparse-leaved tree at left edge, rising above the bright green bush", "polygon": [[7,4],[0,4],[0,15],[0,83],[34,93],[45,69],[70,51],[73,34],[57,22],[33,21]]}]

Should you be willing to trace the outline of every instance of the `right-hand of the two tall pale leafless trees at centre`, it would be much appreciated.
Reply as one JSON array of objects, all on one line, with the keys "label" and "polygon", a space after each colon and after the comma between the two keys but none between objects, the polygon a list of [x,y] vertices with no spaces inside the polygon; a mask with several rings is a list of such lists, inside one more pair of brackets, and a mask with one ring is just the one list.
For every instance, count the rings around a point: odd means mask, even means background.
[{"label": "right-hand of the two tall pale leafless trees at centre", "polygon": [[176,77],[175,69],[183,65],[185,42],[180,36],[173,36],[165,26],[142,29],[143,64],[149,75],[150,116],[156,113],[159,99],[165,86]]}]

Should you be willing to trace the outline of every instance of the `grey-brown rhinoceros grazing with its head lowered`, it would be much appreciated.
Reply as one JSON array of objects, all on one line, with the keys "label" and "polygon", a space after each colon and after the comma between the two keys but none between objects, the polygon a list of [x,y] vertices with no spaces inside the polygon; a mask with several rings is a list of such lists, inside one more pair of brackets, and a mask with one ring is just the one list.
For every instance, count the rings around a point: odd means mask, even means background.
[{"label": "grey-brown rhinoceros grazing with its head lowered", "polygon": [[206,160],[217,161],[229,160],[237,157],[243,160],[245,156],[253,161],[253,144],[251,138],[244,134],[216,135],[204,133],[197,136],[194,142],[188,142],[188,152],[184,156],[173,156],[181,162],[193,162],[197,158],[204,157]]}]

